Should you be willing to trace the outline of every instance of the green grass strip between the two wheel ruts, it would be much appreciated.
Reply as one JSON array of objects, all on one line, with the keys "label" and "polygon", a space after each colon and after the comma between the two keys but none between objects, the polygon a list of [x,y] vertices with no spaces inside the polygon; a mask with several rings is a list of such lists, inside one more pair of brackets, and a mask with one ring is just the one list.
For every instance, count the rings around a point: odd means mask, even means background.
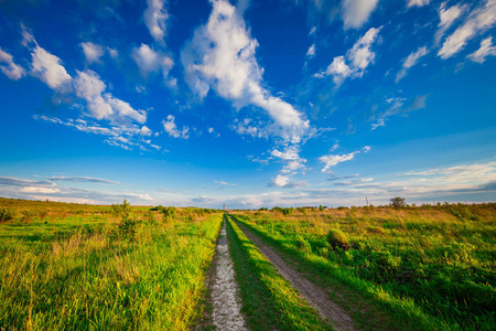
[{"label": "green grass strip between the two wheel ruts", "polygon": [[226,229],[251,330],[332,330],[235,223]]}]

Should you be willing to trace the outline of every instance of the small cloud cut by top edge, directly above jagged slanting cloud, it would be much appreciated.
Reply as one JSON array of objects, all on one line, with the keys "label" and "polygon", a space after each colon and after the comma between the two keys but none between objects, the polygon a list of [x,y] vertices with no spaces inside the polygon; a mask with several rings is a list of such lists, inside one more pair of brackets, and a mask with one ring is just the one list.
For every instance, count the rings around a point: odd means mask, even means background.
[{"label": "small cloud cut by top edge, directly above jagged slanting cloud", "polygon": [[341,3],[341,18],[344,29],[362,28],[376,9],[379,0],[344,0]]}]

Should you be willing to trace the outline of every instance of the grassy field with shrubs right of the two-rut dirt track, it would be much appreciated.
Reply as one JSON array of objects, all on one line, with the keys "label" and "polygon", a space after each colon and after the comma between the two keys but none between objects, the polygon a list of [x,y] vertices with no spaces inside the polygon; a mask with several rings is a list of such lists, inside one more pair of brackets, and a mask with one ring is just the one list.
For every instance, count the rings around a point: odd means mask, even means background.
[{"label": "grassy field with shrubs right of the two-rut dirt track", "polygon": [[496,204],[396,202],[234,216],[321,285],[338,280],[397,325],[496,330]]}]

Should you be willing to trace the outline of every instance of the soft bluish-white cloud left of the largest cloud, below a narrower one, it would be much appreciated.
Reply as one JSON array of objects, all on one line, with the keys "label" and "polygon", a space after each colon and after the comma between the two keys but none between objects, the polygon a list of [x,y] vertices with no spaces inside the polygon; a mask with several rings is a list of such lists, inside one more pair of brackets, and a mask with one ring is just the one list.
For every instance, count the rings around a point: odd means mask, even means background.
[{"label": "soft bluish-white cloud left of the largest cloud, below a narrower one", "polygon": [[150,73],[162,71],[164,79],[169,75],[169,71],[174,65],[174,62],[161,52],[155,52],[147,44],[141,44],[131,52],[131,57],[136,61],[143,77]]}]

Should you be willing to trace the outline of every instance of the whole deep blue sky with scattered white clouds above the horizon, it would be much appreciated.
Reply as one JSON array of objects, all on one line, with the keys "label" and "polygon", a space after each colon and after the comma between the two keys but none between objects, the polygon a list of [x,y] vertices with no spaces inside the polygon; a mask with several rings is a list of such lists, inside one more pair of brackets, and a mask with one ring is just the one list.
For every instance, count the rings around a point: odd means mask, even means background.
[{"label": "whole deep blue sky with scattered white clouds above the horizon", "polygon": [[7,0],[0,18],[0,196],[495,200],[496,0]]}]

